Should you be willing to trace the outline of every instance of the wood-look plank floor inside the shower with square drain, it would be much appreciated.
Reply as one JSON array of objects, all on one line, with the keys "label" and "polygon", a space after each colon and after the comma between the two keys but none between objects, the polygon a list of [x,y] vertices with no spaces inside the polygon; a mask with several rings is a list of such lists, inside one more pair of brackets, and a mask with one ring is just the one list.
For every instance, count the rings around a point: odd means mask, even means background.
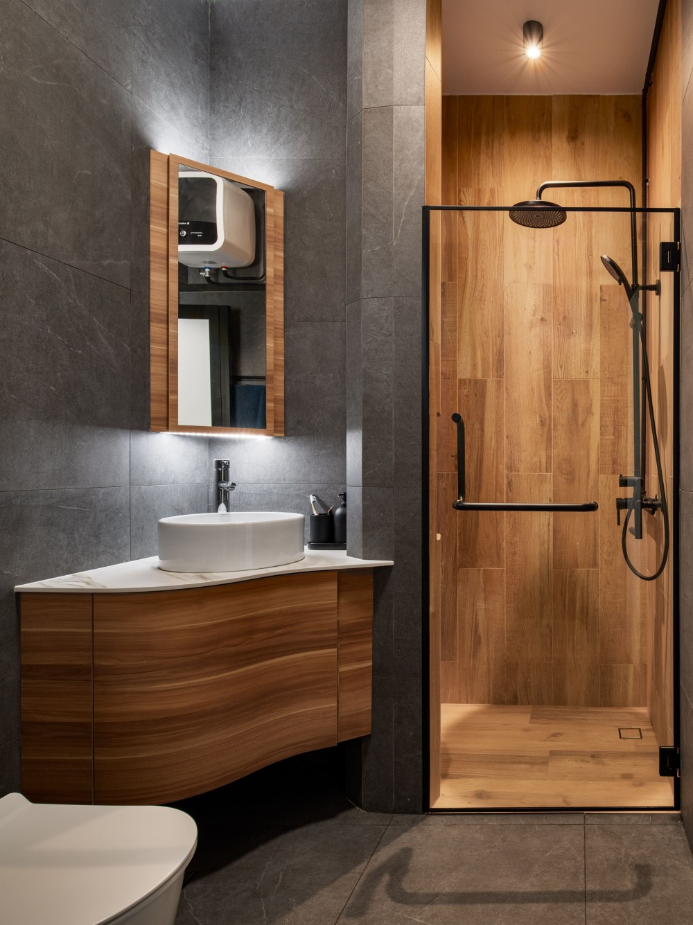
[{"label": "wood-look plank floor inside the shower with square drain", "polygon": [[[644,707],[442,704],[440,712],[437,809],[672,806]],[[619,728],[642,738],[620,738]]]}]

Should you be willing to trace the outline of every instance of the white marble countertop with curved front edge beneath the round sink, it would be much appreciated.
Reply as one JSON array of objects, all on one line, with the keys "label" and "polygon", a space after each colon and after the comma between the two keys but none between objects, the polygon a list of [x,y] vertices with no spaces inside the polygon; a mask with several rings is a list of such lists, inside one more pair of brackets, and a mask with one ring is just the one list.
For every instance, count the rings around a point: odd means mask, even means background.
[{"label": "white marble countertop with curved front edge beneath the round sink", "polygon": [[393,565],[388,560],[354,559],[341,549],[305,549],[304,557],[289,565],[278,565],[269,569],[248,569],[243,572],[163,572],[159,568],[157,556],[151,559],[136,559],[120,562],[118,565],[106,565],[102,569],[90,569],[88,572],[76,572],[60,575],[58,578],[46,578],[31,582],[29,585],[17,585],[15,591],[65,591],[71,594],[125,594],[136,591],[170,591],[174,587],[199,587],[204,585],[231,585],[239,581],[251,581],[253,578],[268,578],[271,575],[284,575],[296,572],[331,572],[334,569],[373,569],[384,565]]}]

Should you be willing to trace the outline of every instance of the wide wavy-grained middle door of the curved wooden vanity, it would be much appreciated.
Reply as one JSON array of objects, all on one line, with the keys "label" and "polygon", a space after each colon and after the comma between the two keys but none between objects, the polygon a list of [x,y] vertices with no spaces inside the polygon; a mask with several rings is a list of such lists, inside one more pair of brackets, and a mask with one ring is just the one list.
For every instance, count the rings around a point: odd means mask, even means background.
[{"label": "wide wavy-grained middle door of the curved wooden vanity", "polygon": [[337,573],[94,596],[97,803],[164,803],[337,742]]}]

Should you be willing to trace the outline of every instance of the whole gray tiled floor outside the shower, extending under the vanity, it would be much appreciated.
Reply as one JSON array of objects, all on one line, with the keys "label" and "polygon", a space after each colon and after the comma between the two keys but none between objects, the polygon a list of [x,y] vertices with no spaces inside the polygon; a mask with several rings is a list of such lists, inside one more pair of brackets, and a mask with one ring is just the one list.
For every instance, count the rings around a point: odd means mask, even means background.
[{"label": "whole gray tiled floor outside the shower, extending under the vanity", "polygon": [[199,833],[177,925],[691,920],[677,817],[363,812],[343,767],[300,756],[174,804]]}]

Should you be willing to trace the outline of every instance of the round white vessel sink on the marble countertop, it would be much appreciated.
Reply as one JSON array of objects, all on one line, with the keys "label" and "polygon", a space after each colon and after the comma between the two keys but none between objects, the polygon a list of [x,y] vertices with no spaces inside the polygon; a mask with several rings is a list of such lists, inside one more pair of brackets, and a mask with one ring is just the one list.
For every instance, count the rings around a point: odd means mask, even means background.
[{"label": "round white vessel sink on the marble countertop", "polygon": [[159,521],[165,572],[239,572],[303,559],[303,514],[183,514]]}]

